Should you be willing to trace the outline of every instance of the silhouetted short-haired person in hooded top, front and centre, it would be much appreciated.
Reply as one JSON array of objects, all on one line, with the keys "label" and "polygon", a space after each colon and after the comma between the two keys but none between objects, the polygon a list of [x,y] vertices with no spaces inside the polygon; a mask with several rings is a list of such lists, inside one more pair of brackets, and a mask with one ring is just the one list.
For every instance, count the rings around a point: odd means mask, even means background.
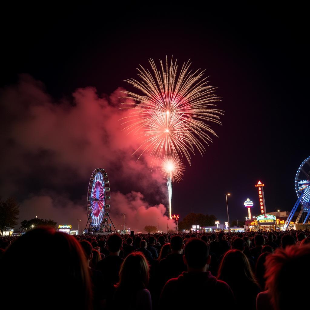
[{"label": "silhouetted short-haired person in hooded top, front and centre", "polygon": [[[183,259],[188,271],[166,283],[159,301],[160,309],[191,309],[193,305],[205,305],[211,309],[218,308],[221,301],[235,309],[235,300],[227,283],[217,280],[208,271],[210,255],[206,242],[189,239]],[[186,295],[182,296],[182,291]]]}]

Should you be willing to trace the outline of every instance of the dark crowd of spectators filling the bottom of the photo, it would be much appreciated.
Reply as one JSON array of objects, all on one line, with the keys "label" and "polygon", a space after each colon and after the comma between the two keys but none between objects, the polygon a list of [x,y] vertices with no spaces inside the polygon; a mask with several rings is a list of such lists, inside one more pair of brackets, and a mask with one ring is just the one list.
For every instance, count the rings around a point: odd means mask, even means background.
[{"label": "dark crowd of spectators filling the bottom of the photo", "polygon": [[[13,309],[283,310],[307,304],[310,231],[0,238]],[[304,270],[304,272],[303,272]]]}]

